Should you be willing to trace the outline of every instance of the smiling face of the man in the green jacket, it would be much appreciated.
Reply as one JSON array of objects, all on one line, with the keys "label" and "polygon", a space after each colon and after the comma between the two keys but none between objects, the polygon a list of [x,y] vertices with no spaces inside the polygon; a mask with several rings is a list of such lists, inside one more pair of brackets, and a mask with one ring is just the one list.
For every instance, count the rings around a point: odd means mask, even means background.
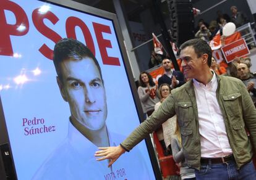
[{"label": "smiling face of the man in the green jacket", "polygon": [[[195,78],[200,75],[203,68],[203,61],[205,61],[205,55],[197,57],[195,54],[194,47],[187,46],[181,50],[180,58],[182,60],[181,66],[183,69],[184,76],[186,78]],[[208,57],[208,56],[207,56]],[[203,60],[204,59],[204,60]]]}]

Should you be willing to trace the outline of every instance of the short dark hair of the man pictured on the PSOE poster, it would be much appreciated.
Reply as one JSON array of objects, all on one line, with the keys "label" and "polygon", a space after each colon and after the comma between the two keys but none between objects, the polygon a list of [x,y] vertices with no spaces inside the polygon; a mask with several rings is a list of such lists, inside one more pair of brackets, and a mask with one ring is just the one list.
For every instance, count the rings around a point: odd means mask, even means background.
[{"label": "short dark hair of the man pictured on the PSOE poster", "polygon": [[63,38],[54,46],[53,63],[59,79],[63,82],[61,69],[59,67],[59,64],[61,62],[67,59],[82,60],[85,57],[93,60],[100,72],[101,80],[103,81],[100,65],[98,63],[98,60],[96,60],[95,56],[93,55],[92,51],[90,51],[90,49],[80,41],[70,38]]}]

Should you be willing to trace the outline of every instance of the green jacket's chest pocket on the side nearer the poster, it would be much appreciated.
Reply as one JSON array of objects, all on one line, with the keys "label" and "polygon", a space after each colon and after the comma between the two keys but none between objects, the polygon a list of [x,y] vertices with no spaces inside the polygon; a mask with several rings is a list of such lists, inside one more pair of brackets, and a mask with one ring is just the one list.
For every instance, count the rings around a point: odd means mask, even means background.
[{"label": "green jacket's chest pocket on the side nearer the poster", "polygon": [[177,118],[181,127],[188,127],[192,118],[194,118],[192,102],[184,101],[178,102]]}]

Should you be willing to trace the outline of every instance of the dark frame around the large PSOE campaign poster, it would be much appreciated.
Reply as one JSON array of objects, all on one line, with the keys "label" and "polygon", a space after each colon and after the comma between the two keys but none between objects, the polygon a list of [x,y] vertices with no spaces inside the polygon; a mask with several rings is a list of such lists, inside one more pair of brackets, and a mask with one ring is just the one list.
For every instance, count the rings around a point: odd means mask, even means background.
[{"label": "dark frame around the large PSOE campaign poster", "polygon": [[[100,18],[105,18],[105,19],[111,20],[113,22],[113,27],[114,27],[114,31],[116,33],[117,42],[118,42],[118,45],[119,45],[120,50],[121,50],[122,60],[124,62],[124,67],[125,67],[125,70],[126,70],[127,78],[129,80],[130,90],[132,91],[134,104],[135,104],[135,107],[137,109],[137,114],[138,114],[140,123],[142,123],[142,121],[145,118],[145,115],[143,114],[143,110],[142,110],[142,106],[141,106],[141,103],[140,103],[139,95],[137,94],[137,88],[135,86],[135,80],[134,80],[134,77],[132,75],[132,69],[130,67],[129,59],[128,59],[127,52],[126,52],[126,47],[124,46],[124,38],[122,37],[121,28],[119,27],[119,22],[117,20],[116,14],[113,14],[111,12],[107,12],[105,10],[96,9],[95,7],[87,6],[85,4],[81,4],[79,2],[70,1],[70,0],[62,0],[62,1],[58,1],[58,0],[48,0],[48,1],[35,0],[35,1],[47,2],[49,4],[54,4],[56,6],[60,6],[60,7],[63,7],[63,8],[72,9],[72,10],[75,10],[75,11],[78,11],[78,12],[94,15],[94,16],[100,17]],[[4,110],[3,110],[3,107],[2,107],[1,94],[0,94],[0,132],[1,132],[0,145],[7,143],[10,146],[9,136],[8,136],[8,133],[7,133],[6,120],[5,120],[5,117],[4,117]],[[145,142],[146,142],[146,145],[147,145],[147,150],[148,150],[148,155],[150,157],[151,165],[152,165],[153,171],[155,173],[155,178],[156,179],[161,179],[161,173],[160,173],[160,170],[159,170],[158,162],[156,160],[155,150],[153,148],[150,136],[145,138]],[[11,149],[10,149],[10,152],[11,152],[12,164],[14,165],[14,160],[13,160],[13,157],[12,157]],[[12,175],[15,177],[15,179],[17,179],[17,174],[15,172],[15,167],[13,167],[13,170],[14,170],[14,174],[12,174]],[[4,172],[4,162],[2,162],[1,155],[0,155],[0,177],[1,177],[1,179],[9,179],[9,178],[6,178],[6,173]]]}]

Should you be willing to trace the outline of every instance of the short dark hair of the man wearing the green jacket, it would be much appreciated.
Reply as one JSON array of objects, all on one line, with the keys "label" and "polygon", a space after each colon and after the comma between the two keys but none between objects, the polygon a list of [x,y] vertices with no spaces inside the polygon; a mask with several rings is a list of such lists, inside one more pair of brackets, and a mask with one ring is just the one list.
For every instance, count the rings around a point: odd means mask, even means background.
[{"label": "short dark hair of the man wearing the green jacket", "polygon": [[192,46],[194,48],[197,57],[201,57],[203,54],[208,54],[207,65],[211,67],[211,47],[203,39],[190,39],[185,43],[181,44],[179,51],[185,49],[186,47]]}]

